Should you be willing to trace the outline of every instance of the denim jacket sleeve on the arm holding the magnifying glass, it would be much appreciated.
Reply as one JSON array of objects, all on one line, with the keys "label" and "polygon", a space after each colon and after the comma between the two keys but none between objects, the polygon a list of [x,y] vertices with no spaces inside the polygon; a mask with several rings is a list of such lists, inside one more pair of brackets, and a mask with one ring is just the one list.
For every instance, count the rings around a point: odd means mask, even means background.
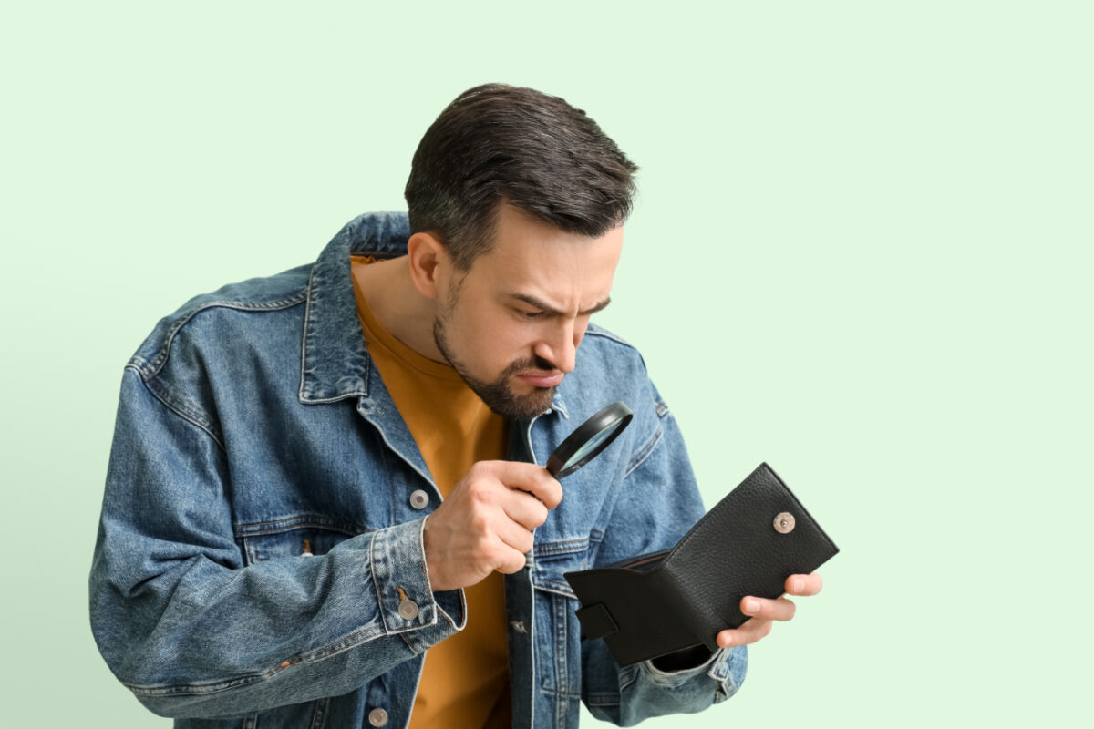
[{"label": "denim jacket sleeve on the arm holding the magnifying glass", "polygon": [[149,709],[233,717],[344,694],[463,627],[463,591],[430,590],[423,519],[245,565],[225,463],[197,419],[126,369],[91,623]]}]

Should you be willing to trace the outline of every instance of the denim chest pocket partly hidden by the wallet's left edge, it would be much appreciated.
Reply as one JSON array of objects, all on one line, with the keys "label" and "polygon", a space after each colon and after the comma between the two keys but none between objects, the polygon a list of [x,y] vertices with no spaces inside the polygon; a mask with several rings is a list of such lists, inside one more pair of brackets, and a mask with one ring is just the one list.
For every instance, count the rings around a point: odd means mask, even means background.
[{"label": "denim chest pocket partly hidden by the wallet's left edge", "polygon": [[581,626],[574,615],[579,604],[563,575],[585,567],[589,543],[538,544],[536,552],[532,569],[536,677],[542,690],[580,698]]}]

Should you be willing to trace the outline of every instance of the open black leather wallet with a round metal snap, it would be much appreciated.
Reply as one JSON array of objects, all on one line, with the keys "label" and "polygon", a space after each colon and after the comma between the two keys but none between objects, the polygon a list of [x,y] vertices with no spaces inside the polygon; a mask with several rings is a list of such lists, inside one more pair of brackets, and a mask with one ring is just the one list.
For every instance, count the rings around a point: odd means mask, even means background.
[{"label": "open black leather wallet with a round metal snap", "polygon": [[705,645],[748,615],[741,598],[777,598],[839,549],[787,484],[761,463],[671,550],[567,573],[585,637],[620,666]]}]

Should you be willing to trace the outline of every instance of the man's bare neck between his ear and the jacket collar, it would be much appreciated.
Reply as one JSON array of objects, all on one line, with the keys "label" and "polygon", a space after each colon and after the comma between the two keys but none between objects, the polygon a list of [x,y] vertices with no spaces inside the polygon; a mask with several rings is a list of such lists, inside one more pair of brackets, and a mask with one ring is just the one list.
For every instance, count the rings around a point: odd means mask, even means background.
[{"label": "man's bare neck between his ear and the jacket collar", "polygon": [[353,278],[381,327],[422,356],[444,362],[433,341],[437,302],[415,287],[406,256],[354,266]]}]

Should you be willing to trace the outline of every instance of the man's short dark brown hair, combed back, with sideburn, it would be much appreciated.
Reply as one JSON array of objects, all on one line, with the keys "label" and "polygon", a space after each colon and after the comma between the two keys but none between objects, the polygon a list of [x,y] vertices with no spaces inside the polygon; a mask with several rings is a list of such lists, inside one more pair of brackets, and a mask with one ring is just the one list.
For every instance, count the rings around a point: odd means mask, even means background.
[{"label": "man's short dark brown hair, combed back, with sideburn", "polygon": [[430,232],[457,269],[493,244],[499,203],[567,233],[627,220],[638,166],[566,99],[500,83],[456,97],[418,143],[407,179],[410,233]]}]

